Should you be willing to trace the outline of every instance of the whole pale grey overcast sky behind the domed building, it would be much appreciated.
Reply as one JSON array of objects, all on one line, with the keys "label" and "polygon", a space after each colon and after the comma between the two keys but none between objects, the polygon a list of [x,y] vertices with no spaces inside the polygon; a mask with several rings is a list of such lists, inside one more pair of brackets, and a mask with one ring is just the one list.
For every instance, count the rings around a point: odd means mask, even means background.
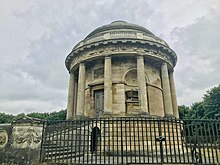
[{"label": "whole pale grey overcast sky behind the domed building", "polygon": [[179,105],[201,101],[219,84],[219,0],[1,0],[0,112],[65,109],[66,56],[115,20],[146,27],[177,53]]}]

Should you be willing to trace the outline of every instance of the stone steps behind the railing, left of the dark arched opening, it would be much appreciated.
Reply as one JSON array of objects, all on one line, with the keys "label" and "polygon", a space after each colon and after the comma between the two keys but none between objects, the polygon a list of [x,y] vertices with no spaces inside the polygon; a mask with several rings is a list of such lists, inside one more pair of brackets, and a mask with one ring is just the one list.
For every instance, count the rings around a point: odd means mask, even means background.
[{"label": "stone steps behind the railing, left of the dark arched opening", "polygon": [[85,152],[85,146],[88,146],[88,140],[84,138],[88,137],[89,133],[84,129],[85,125],[62,127],[58,124],[47,127],[42,143],[41,160],[43,162],[63,162],[84,155],[82,151]]}]

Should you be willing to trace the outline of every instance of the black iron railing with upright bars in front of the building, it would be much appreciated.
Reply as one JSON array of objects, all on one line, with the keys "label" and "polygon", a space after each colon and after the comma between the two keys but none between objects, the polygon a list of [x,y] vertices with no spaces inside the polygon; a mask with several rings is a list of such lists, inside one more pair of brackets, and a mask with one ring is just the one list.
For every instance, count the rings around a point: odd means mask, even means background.
[{"label": "black iron railing with upright bars in front of the building", "polygon": [[45,122],[52,164],[219,164],[220,120],[100,118]]}]

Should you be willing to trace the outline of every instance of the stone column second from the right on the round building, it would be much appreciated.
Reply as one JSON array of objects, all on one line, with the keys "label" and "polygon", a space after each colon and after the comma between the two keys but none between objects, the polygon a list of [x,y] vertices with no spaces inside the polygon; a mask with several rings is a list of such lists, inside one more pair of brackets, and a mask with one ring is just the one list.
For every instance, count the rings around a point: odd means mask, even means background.
[{"label": "stone column second from the right on the round building", "polygon": [[161,78],[162,78],[162,86],[163,86],[163,100],[164,100],[165,116],[171,117],[173,116],[173,108],[172,108],[172,99],[171,99],[171,94],[170,94],[168,69],[167,69],[166,63],[162,64]]}]

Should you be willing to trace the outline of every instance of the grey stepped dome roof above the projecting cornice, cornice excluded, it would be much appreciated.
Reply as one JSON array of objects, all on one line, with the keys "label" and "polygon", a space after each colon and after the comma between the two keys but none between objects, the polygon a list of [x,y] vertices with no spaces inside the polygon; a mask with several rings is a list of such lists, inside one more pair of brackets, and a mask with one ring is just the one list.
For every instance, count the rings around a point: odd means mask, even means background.
[{"label": "grey stepped dome roof above the projecting cornice, cornice excluded", "polygon": [[125,21],[114,21],[93,30],[84,40],[79,42],[73,48],[73,51],[88,44],[117,39],[145,40],[169,47],[164,40],[155,36],[152,32],[142,26],[127,23]]}]

